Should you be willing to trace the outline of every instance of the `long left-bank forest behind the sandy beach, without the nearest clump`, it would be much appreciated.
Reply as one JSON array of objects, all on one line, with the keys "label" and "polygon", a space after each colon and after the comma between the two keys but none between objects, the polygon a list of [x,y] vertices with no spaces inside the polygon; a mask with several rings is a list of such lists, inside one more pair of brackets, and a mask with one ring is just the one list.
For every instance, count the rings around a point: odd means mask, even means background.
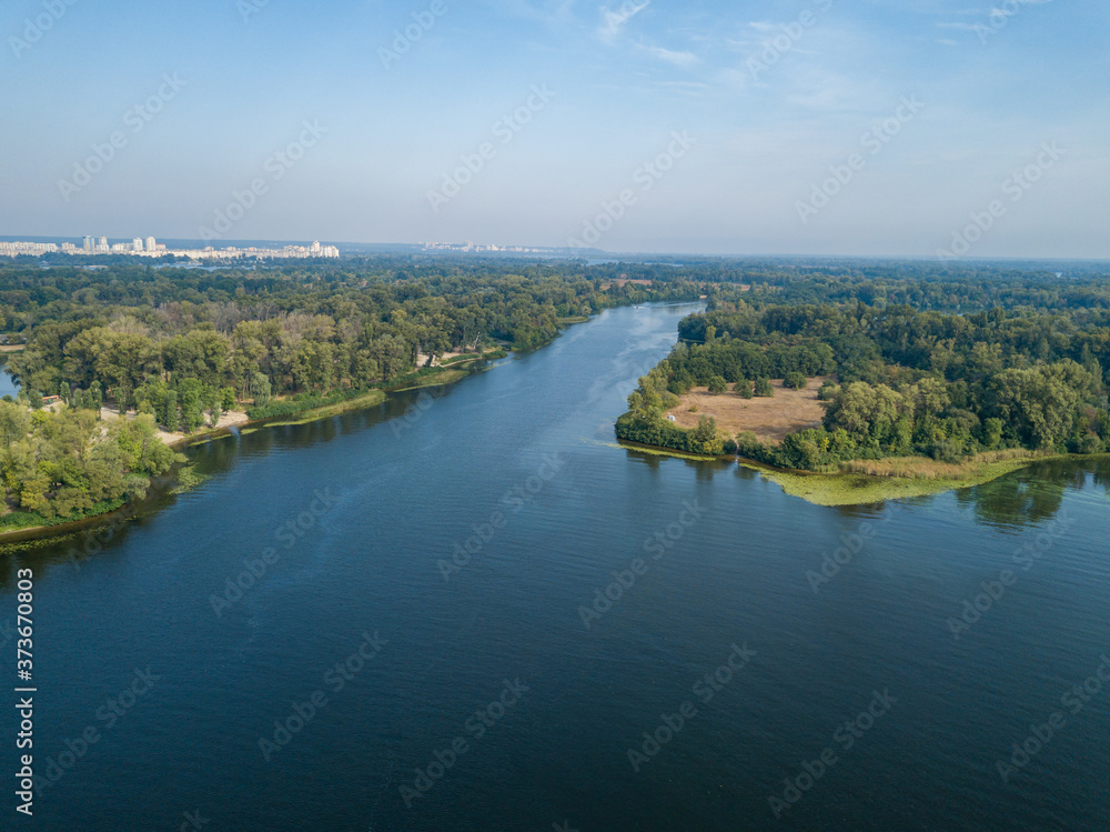
[{"label": "long left-bank forest behind the sandy beach, without the nearest clump", "polygon": [[608,307],[697,297],[682,281],[603,290],[581,277],[470,274],[455,265],[408,279],[393,267],[350,265],[29,271],[0,269],[0,304],[34,308],[27,349],[9,359],[28,395],[90,408],[110,400],[185,431],[236,400],[266,408],[295,394],[364,390],[448,352],[539,345],[567,320]]}]

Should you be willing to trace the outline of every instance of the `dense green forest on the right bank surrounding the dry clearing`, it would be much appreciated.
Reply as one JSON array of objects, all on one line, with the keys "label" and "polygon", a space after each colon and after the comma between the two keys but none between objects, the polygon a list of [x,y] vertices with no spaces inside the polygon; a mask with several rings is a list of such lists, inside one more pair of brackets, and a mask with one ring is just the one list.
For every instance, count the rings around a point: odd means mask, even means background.
[{"label": "dense green forest on the right bank surrounding the dry clearing", "polygon": [[[814,292],[827,290],[815,289]],[[1030,285],[1021,303],[945,313],[907,303],[781,304],[751,293],[713,295],[679,324],[679,343],[640,379],[623,439],[698,453],[737,450],[783,468],[834,471],[847,460],[926,455],[957,462],[985,451],[1110,450],[1110,285]],[[904,281],[899,292],[924,291]],[[973,281],[951,293],[971,305]],[[800,289],[799,289],[800,292]],[[999,287],[990,292],[997,300]],[[1080,299],[1090,299],[1090,305]],[[834,377],[819,391],[824,424],[775,447],[722,437],[709,419],[685,431],[664,414],[693,387],[750,395],[767,379]],[[727,394],[727,393],[726,393]],[[737,393],[740,394],[740,393]],[[758,393],[757,393],[758,394]]]}]

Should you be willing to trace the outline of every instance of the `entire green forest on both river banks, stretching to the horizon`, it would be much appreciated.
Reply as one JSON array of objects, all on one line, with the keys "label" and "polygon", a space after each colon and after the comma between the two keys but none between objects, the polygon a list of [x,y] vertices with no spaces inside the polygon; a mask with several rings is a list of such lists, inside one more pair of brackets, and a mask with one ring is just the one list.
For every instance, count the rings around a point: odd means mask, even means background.
[{"label": "entire green forest on both river banks, stretching to the horizon", "polygon": [[[1070,263],[382,254],[220,268],[132,258],[0,263],[0,333],[19,402],[0,403],[7,513],[27,525],[135,497],[175,455],[158,429],[294,412],[531,349],[606,308],[705,299],[640,380],[618,435],[834,470],[844,460],[983,450],[1101,451],[1110,440],[1110,279]],[[461,359],[460,359],[461,360]],[[829,377],[821,428],[765,447],[664,413],[709,385]],[[60,402],[43,410],[43,397]],[[100,421],[101,408],[131,412]]]}]

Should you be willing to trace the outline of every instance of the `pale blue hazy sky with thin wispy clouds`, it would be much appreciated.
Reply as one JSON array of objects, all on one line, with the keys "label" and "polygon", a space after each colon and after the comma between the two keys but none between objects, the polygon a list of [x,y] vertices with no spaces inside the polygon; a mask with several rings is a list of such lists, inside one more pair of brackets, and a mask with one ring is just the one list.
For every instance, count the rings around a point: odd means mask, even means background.
[{"label": "pale blue hazy sky with thin wispy clouds", "polygon": [[6,0],[0,233],[1110,258],[1110,4],[977,2]]}]

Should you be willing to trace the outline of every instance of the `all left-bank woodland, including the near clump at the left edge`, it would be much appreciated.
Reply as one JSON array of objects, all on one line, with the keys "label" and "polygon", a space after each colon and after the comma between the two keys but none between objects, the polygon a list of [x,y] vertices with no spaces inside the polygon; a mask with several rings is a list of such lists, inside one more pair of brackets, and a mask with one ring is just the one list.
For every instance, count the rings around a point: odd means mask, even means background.
[{"label": "all left-bank woodland, including the near clump at the left edge", "polygon": [[[254,418],[351,398],[432,372],[447,353],[534,348],[605,308],[699,291],[515,265],[0,265],[0,323],[26,343],[7,357],[19,402],[0,403],[0,525],[142,494],[174,461],[157,428],[190,433],[234,408]],[[44,397],[60,404],[43,410]],[[101,422],[103,405],[138,418]]]}]

